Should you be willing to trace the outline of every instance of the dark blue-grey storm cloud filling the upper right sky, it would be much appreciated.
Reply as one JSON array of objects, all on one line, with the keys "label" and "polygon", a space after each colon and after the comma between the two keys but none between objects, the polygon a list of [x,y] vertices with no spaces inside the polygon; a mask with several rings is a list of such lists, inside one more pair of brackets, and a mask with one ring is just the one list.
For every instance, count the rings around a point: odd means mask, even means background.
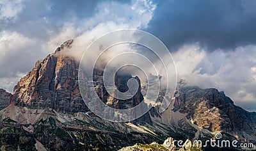
[{"label": "dark blue-grey storm cloud filling the upper right sky", "polygon": [[209,50],[256,44],[256,1],[159,1],[149,31],[169,48]]}]

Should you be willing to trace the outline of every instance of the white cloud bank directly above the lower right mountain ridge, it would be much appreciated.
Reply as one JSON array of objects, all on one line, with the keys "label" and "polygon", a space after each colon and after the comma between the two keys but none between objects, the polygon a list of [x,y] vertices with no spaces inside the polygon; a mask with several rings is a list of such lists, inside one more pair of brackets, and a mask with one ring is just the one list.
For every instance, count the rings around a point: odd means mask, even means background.
[{"label": "white cloud bank directly above the lower right mountain ridge", "polygon": [[256,110],[256,46],[207,52],[198,44],[184,45],[173,54],[178,79],[200,88],[218,88],[235,104]]}]

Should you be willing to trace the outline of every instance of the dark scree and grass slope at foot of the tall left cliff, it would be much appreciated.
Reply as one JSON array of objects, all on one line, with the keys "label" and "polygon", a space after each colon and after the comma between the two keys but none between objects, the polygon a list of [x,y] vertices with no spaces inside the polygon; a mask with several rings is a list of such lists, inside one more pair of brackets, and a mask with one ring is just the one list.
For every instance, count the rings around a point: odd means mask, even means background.
[{"label": "dark scree and grass slope at foot of the tall left cliff", "polygon": [[93,113],[58,113],[11,104],[0,111],[1,150],[118,150],[159,140],[150,129]]}]

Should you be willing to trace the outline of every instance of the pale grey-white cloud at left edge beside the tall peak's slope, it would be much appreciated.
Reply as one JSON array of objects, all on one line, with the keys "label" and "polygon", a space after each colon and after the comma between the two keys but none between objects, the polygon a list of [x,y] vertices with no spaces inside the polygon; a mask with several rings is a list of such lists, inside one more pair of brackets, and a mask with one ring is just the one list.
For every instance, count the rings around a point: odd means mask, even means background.
[{"label": "pale grey-white cloud at left edge beside the tall peak's slope", "polygon": [[0,86],[12,91],[17,79],[31,70],[43,54],[35,49],[36,40],[15,31],[2,31],[0,35]]}]

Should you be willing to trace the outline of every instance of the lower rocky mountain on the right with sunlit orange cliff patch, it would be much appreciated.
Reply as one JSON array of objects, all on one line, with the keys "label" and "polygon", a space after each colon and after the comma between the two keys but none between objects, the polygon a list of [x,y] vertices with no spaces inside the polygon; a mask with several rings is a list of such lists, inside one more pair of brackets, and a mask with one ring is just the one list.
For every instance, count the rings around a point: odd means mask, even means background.
[{"label": "lower rocky mountain on the right with sunlit orange cliff patch", "polygon": [[158,113],[155,106],[150,115],[184,138],[205,139],[221,132],[225,139],[256,143],[256,113],[234,105],[223,91],[214,88],[180,86],[164,113]]}]

